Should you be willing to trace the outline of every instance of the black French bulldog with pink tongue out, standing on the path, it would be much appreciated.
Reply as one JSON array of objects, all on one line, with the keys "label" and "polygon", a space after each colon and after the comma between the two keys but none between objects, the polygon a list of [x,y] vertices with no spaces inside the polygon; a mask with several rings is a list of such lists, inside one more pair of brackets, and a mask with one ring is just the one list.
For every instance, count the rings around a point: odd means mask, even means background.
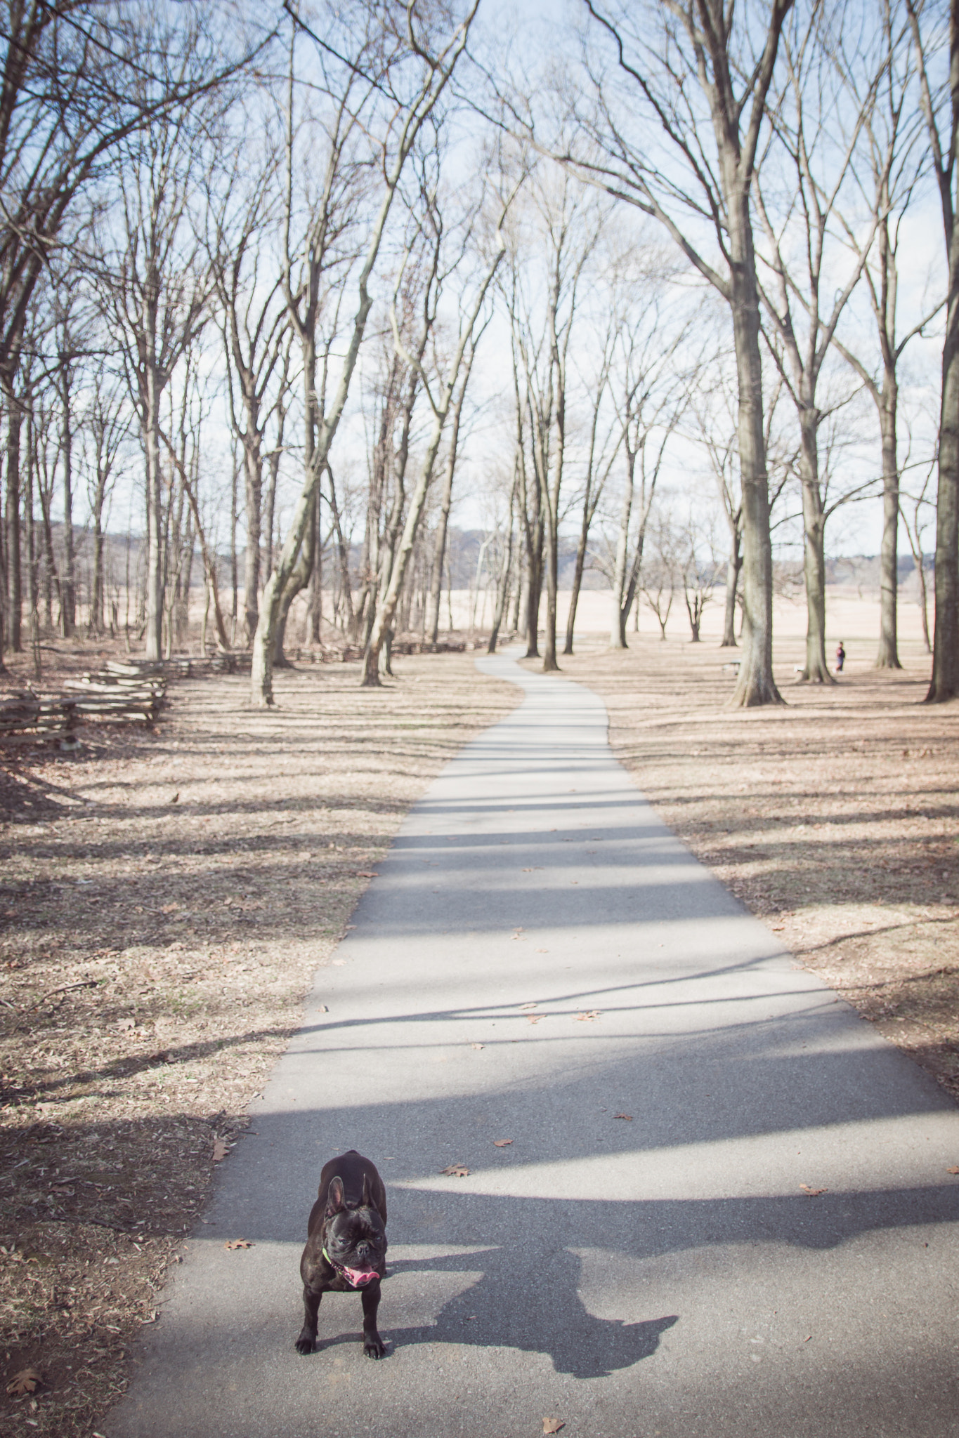
[{"label": "black French bulldog with pink tongue out, standing on the path", "polygon": [[299,1271],[305,1319],[298,1353],[312,1353],[316,1316],[325,1293],[362,1296],[362,1350],[384,1357],[377,1332],[380,1280],[387,1274],[387,1191],[375,1165],[355,1149],[324,1163],[319,1198],[309,1214],[309,1234]]}]

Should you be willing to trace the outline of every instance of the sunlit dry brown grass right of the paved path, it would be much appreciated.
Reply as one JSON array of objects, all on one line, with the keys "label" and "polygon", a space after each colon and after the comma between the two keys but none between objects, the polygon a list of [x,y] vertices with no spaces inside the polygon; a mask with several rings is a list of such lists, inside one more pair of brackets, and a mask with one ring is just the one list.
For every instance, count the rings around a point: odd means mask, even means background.
[{"label": "sunlit dry brown grass right of the paved path", "polygon": [[[667,824],[797,958],[959,1097],[959,706],[923,705],[929,659],[899,673],[873,646],[835,686],[730,709],[735,651],[630,636],[584,649],[571,679],[602,695],[610,739]],[[847,643],[848,647],[848,643]]]}]

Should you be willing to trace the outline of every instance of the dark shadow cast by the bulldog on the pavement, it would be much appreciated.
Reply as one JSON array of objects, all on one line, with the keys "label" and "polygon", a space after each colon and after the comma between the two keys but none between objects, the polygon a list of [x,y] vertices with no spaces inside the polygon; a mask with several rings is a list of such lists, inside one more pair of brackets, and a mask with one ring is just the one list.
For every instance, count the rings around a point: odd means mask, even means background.
[{"label": "dark shadow cast by the bulldog on the pavement", "polygon": [[[403,1258],[388,1264],[394,1274],[462,1273],[480,1265],[483,1276],[479,1283],[444,1303],[434,1323],[420,1327],[398,1327],[390,1322],[391,1286],[387,1278],[380,1309],[387,1352],[417,1343],[512,1347],[549,1355],[558,1373],[608,1378],[650,1357],[659,1347],[660,1334],[679,1322],[676,1314],[638,1323],[594,1317],[577,1291],[579,1260],[566,1250],[552,1254],[545,1264],[535,1264],[531,1273],[525,1273],[503,1248],[449,1258]],[[519,1296],[518,1288],[523,1290]],[[332,1327],[334,1313],[334,1306],[325,1303],[319,1320],[319,1350],[358,1339],[354,1333],[324,1337],[324,1316]]]}]

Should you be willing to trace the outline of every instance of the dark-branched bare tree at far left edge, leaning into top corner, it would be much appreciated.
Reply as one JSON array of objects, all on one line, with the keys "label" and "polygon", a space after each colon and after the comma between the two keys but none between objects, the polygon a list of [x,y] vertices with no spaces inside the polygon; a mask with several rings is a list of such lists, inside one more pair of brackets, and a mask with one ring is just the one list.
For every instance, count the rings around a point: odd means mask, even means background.
[{"label": "dark-branched bare tree at far left edge, leaning into top corner", "polygon": [[[240,46],[237,53],[236,37],[214,17],[207,0],[194,0],[174,27],[157,24],[154,7],[139,0],[0,4],[0,394],[7,416],[14,416],[7,485],[17,496],[23,413],[16,408],[16,375],[36,286],[68,214],[88,187],[99,184],[118,144],[198,92],[217,89],[249,60],[253,50]],[[187,36],[183,53],[190,60],[178,73],[167,65],[168,52],[177,49],[174,32]],[[19,545],[17,528],[14,578]]]}]

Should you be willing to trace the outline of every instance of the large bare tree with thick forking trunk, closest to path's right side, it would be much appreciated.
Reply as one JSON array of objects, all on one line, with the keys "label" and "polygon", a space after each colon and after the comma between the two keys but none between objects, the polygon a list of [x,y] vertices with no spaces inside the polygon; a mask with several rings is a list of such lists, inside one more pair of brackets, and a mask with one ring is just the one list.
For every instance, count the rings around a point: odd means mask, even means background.
[{"label": "large bare tree with thick forking trunk, closest to path's right side", "polygon": [[[585,0],[610,42],[612,73],[594,68],[594,106],[579,139],[551,151],[579,175],[653,216],[730,309],[739,378],[743,496],[743,661],[733,702],[781,703],[772,677],[772,546],[763,452],[759,293],[751,216],[759,141],[779,36],[792,0],[771,0],[765,19],[723,0],[602,6]],[[696,92],[702,102],[697,104]],[[666,154],[657,158],[648,125]],[[710,260],[699,242],[709,229]]]}]

